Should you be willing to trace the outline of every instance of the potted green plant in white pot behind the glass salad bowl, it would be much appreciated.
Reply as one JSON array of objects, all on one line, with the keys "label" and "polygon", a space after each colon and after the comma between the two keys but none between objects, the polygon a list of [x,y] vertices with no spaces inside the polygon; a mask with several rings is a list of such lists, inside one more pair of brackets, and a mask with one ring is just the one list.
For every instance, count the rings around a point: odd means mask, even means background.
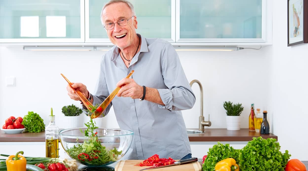
[{"label": "potted green plant in white pot behind the glass salad bowl", "polygon": [[82,114],[82,112],[83,111],[79,107],[76,107],[74,104],[63,106],[62,113],[64,114],[64,117],[66,118],[64,129],[79,127],[79,117],[80,117],[80,114]]}]

